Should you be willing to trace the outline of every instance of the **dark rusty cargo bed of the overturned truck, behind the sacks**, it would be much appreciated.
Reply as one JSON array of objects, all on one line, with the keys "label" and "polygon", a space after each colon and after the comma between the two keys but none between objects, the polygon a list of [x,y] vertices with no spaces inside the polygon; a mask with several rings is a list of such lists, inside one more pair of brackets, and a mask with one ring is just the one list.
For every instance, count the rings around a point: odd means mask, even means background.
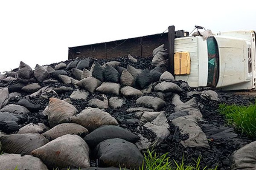
[{"label": "dark rusty cargo bed of the overturned truck, behind the sacks", "polygon": [[166,48],[168,47],[168,33],[70,47],[68,58],[92,57],[110,59],[127,56],[128,54],[132,56],[149,57],[152,56],[154,48],[162,44],[165,44]]}]

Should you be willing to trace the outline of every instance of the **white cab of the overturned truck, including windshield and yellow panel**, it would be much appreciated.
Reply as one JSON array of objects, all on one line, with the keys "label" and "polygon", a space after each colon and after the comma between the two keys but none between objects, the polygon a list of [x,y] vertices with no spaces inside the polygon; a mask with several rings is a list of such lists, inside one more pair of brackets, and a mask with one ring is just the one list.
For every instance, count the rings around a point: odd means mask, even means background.
[{"label": "white cab of the overturned truck, including windshield and yellow panel", "polygon": [[255,89],[255,31],[219,32],[206,40],[201,36],[176,38],[174,61],[175,79],[191,87]]}]

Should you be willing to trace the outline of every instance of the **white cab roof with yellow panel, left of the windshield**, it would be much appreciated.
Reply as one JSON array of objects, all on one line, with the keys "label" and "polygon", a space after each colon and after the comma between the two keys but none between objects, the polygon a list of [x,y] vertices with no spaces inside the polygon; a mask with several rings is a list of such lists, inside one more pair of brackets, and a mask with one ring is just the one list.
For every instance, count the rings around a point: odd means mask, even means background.
[{"label": "white cab roof with yellow panel, left of the windshield", "polygon": [[188,82],[192,88],[207,87],[207,56],[207,41],[202,37],[176,38],[175,79]]}]

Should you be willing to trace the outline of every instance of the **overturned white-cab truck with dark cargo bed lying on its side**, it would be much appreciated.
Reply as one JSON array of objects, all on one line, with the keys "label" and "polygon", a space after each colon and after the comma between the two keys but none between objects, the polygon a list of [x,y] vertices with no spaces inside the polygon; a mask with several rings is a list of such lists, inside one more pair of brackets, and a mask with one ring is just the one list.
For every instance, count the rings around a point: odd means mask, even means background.
[{"label": "overturned white-cab truck with dark cargo bed lying on its side", "polygon": [[[198,31],[199,32],[199,31]],[[161,44],[168,54],[168,69],[176,80],[192,88],[251,90],[256,87],[255,31],[228,31],[207,37],[175,31],[69,48],[69,59],[105,58],[127,54],[147,57]]]}]

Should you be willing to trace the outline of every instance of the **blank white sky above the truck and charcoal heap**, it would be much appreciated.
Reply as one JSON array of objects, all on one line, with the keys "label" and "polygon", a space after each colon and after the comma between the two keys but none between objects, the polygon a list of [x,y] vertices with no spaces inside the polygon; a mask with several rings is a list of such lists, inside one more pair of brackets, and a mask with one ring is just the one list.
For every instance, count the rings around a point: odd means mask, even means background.
[{"label": "blank white sky above the truck and charcoal heap", "polygon": [[[232,2],[232,3],[231,3]],[[1,0],[0,72],[68,59],[68,47],[158,34],[256,30],[256,1]]]}]

